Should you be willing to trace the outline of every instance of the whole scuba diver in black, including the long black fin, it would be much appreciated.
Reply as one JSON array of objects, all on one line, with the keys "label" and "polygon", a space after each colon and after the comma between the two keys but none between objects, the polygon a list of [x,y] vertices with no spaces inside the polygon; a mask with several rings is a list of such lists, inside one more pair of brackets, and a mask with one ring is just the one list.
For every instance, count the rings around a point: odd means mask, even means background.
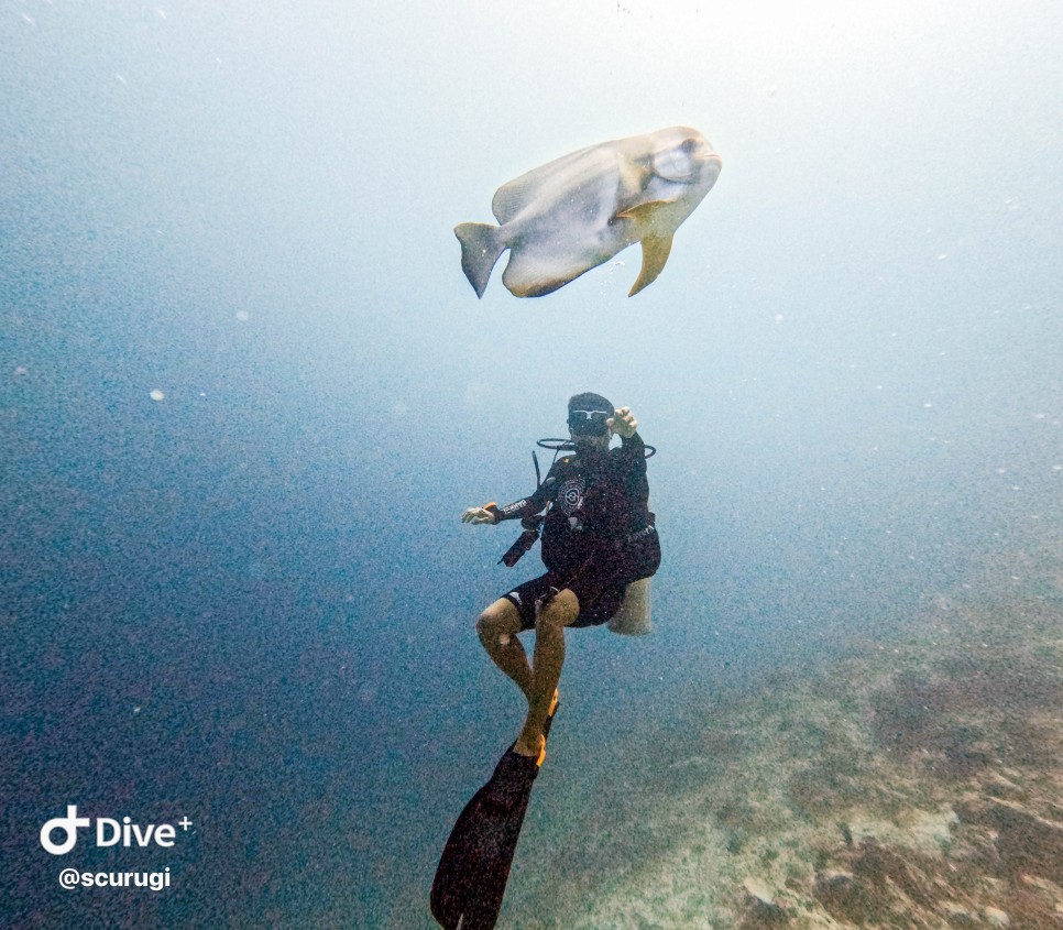
[{"label": "whole scuba diver in black, including the long black fin", "polygon": [[[616,409],[600,394],[577,394],[569,401],[568,424],[569,440],[539,440],[571,455],[555,458],[534,494],[504,507],[470,507],[461,516],[471,524],[522,521],[524,533],[502,557],[509,567],[541,529],[547,571],[518,584],[476,621],[487,655],[524,692],[528,715],[443,846],[429,904],[445,930],[491,930],[498,918],[558,707],[565,627],[605,623],[621,610],[627,586],[649,578],[660,565],[646,481],[653,449],[635,431],[631,409]],[[614,433],[621,446],[610,449]],[[538,470],[536,460],[536,477]],[[535,630],[530,663],[517,639],[525,630]]]}]

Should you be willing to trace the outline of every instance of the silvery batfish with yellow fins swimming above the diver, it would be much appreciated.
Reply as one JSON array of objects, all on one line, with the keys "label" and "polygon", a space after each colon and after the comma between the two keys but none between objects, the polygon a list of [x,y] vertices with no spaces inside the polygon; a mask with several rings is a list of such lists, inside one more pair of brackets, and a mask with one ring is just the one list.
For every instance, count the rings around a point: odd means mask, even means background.
[{"label": "silvery batfish with yellow fins swimming above the diver", "polygon": [[633,296],[660,274],[672,236],[721,166],[708,140],[682,125],[572,152],[502,185],[491,201],[498,226],[454,227],[461,270],[483,297],[508,249],[502,283],[517,297],[541,297],[642,242]]}]

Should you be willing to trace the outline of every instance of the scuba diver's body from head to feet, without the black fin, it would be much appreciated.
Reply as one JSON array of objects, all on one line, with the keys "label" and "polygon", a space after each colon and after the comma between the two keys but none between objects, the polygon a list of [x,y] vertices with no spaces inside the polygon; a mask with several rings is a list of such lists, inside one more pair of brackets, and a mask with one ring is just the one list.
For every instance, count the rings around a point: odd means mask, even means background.
[{"label": "scuba diver's body from head to feet, without the black fin", "polygon": [[[528,701],[512,752],[538,765],[546,757],[544,731],[557,710],[565,627],[605,623],[620,610],[625,588],[660,565],[646,479],[648,447],[637,426],[629,407],[614,408],[600,394],[577,394],[568,404],[571,441],[560,446],[571,453],[555,459],[535,493],[504,507],[470,507],[461,516],[470,524],[522,519],[525,533],[503,557],[511,566],[541,525],[546,573],[513,588],[476,621],[487,655]],[[610,449],[613,434],[621,446]],[[517,638],[527,630],[535,630],[530,663]]]}]

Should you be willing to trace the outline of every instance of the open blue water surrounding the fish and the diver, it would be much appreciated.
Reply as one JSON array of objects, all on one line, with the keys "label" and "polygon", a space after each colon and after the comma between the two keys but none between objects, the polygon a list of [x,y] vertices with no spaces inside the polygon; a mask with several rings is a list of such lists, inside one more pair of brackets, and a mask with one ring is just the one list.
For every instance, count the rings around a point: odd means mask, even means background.
[{"label": "open blue water surrounding the fish and the diver", "polygon": [[[458,517],[532,490],[578,391],[659,448],[665,561],[654,636],[570,636],[579,772],[539,794],[1057,539],[1061,26],[8,2],[3,922],[427,926],[520,716],[473,619],[536,558],[507,573],[512,534]],[[650,288],[632,250],[475,299],[454,223],[672,123],[724,169]],[[37,831],[68,803],[195,832],[61,862]],[[64,891],[67,864],[173,886]]]}]

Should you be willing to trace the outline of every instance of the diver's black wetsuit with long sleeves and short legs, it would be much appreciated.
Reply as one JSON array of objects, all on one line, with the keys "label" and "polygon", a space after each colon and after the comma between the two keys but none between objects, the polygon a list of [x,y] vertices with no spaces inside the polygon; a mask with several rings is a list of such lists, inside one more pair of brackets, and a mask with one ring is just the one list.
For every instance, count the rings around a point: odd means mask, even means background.
[{"label": "diver's black wetsuit with long sleeves and short legs", "polygon": [[535,602],[550,588],[568,588],[579,599],[573,626],[605,623],[620,609],[626,586],[660,566],[639,435],[596,456],[581,449],[559,459],[532,496],[498,507],[497,518],[518,519],[546,506],[547,573],[505,594],[520,613],[520,628],[535,626]]}]

